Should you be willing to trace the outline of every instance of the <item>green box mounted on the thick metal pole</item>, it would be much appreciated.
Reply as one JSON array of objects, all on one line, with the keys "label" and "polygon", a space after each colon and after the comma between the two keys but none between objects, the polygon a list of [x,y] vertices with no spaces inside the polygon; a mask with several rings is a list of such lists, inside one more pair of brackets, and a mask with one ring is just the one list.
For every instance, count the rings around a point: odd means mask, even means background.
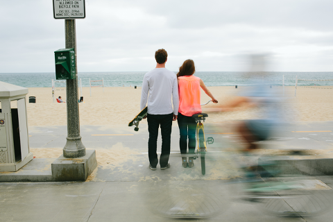
[{"label": "green box mounted on the thick metal pole", "polygon": [[75,51],[71,49],[59,49],[54,52],[56,59],[56,79],[76,78]]}]

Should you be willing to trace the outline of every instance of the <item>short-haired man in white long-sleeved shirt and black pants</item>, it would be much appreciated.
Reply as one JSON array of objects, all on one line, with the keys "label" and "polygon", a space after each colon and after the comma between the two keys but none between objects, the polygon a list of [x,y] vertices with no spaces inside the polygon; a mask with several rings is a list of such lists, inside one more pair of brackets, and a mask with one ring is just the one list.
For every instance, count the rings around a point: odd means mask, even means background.
[{"label": "short-haired man in white long-sleeved shirt and black pants", "polygon": [[[141,94],[141,110],[146,107],[148,98],[148,157],[149,168],[156,170],[157,135],[161,127],[162,152],[160,155],[161,169],[168,169],[172,121],[177,119],[179,98],[177,76],[165,68],[168,53],[164,49],[155,52],[156,68],[144,75]],[[149,93],[149,96],[148,96]],[[172,102],[171,102],[172,97]],[[172,107],[173,104],[173,107]]]}]

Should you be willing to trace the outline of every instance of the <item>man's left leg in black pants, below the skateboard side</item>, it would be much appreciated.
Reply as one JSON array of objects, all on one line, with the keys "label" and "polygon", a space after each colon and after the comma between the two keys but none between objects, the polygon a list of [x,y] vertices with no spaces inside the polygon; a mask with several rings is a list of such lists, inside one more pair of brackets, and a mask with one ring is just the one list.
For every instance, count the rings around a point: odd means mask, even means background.
[{"label": "man's left leg in black pants, below the skateboard side", "polygon": [[156,167],[158,163],[157,159],[157,136],[158,136],[158,128],[160,126],[160,122],[156,115],[147,114],[148,121],[148,158],[149,163],[152,167]]}]

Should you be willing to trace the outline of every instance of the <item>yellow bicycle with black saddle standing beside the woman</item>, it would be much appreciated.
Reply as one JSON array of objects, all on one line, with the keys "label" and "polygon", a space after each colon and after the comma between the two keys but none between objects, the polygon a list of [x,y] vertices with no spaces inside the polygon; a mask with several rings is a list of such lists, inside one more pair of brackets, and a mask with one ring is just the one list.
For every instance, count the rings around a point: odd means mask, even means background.
[{"label": "yellow bicycle with black saddle standing beside the woman", "polygon": [[[211,101],[211,100],[210,100]],[[200,105],[207,105],[210,103],[208,101],[205,104],[200,104]],[[205,175],[206,173],[206,167],[205,167],[205,154],[207,151],[207,144],[206,144],[206,139],[205,139],[205,130],[203,128],[203,122],[205,122],[206,117],[208,117],[208,114],[206,113],[198,113],[194,114],[192,116],[195,121],[196,121],[196,149],[194,151],[194,160],[200,157],[200,162],[201,162],[201,173]],[[213,137],[208,137],[207,138],[208,144],[213,144],[214,143],[214,138]]]}]

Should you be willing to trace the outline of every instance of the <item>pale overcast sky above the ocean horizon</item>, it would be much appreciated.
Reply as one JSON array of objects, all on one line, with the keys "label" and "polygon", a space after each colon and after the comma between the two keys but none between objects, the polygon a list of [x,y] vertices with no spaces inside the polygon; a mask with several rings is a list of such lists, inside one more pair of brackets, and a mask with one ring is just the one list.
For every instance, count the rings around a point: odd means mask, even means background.
[{"label": "pale overcast sky above the ocean horizon", "polygon": [[[244,71],[244,55],[268,53],[268,71],[333,70],[332,0],[85,0],[76,19],[78,72],[167,69]],[[65,20],[52,0],[0,0],[0,73],[54,72]]]}]

